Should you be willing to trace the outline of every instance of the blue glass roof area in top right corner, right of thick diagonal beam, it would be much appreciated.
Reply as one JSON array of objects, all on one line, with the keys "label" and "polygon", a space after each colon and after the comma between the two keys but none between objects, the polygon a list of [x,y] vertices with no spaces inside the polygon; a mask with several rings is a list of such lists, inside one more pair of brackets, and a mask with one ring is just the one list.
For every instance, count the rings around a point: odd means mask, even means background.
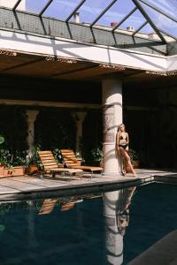
[{"label": "blue glass roof area in top right corner, right of thick diagonal beam", "polygon": [[[142,4],[142,3],[141,3]],[[143,9],[150,16],[150,19],[159,29],[165,31],[168,34],[172,34],[174,37],[177,37],[177,23],[172,19],[168,19],[158,11],[151,9],[146,4],[142,4]],[[170,40],[169,40],[170,41]]]}]

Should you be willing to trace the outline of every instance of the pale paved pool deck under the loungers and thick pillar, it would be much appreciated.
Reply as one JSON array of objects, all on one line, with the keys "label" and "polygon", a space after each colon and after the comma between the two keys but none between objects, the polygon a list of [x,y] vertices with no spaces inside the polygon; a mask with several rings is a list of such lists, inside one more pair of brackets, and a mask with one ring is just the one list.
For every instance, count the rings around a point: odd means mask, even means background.
[{"label": "pale paved pool deck under the loungers and thick pillar", "polygon": [[108,176],[84,174],[80,177],[56,178],[40,175],[0,178],[0,201],[35,200],[58,196],[71,196],[84,193],[109,192],[128,186],[139,186],[151,182],[177,184],[177,170],[136,170],[137,178],[131,174]]}]

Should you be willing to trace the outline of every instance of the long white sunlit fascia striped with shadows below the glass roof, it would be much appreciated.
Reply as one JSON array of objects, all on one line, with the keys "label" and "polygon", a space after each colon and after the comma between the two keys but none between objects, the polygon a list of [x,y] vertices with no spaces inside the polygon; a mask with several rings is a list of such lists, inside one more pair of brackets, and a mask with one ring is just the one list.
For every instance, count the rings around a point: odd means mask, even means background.
[{"label": "long white sunlit fascia striped with shadows below the glass roof", "polygon": [[166,71],[166,57],[5,30],[0,30],[0,49],[13,49],[46,57],[73,57],[97,63],[120,64],[141,70]]}]

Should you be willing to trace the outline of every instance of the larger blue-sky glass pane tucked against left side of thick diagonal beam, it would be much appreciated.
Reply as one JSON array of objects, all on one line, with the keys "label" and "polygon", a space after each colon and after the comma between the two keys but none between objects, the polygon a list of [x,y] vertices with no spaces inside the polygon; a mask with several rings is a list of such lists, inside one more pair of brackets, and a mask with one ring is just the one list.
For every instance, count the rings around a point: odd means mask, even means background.
[{"label": "larger blue-sky glass pane tucked against left side of thick diagonal beam", "polygon": [[135,31],[146,21],[140,11],[135,11],[119,28]]}]

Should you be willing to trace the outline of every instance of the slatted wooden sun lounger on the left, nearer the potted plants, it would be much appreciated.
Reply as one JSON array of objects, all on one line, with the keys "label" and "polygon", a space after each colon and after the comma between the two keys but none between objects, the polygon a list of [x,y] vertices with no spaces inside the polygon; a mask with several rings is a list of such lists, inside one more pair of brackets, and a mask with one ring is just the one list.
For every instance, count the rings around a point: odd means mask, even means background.
[{"label": "slatted wooden sun lounger on the left, nearer the potted plants", "polygon": [[63,164],[58,164],[55,160],[55,157],[53,156],[51,151],[38,151],[38,155],[42,161],[43,170],[45,173],[51,173],[52,178],[56,177],[56,174],[58,173],[68,173],[70,176],[77,174],[82,177],[83,170],[81,169],[65,169]]}]

